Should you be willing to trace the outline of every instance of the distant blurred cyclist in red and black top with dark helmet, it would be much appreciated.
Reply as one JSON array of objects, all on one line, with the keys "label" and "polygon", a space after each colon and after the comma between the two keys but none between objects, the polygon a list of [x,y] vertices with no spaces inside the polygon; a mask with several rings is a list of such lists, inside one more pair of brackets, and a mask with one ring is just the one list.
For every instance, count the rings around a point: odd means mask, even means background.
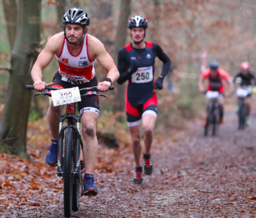
[{"label": "distant blurred cyclist in red and black top with dark helmet", "polygon": [[[207,80],[208,85],[206,89],[204,88],[203,81]],[[220,107],[220,123],[224,123],[224,98],[225,98],[225,86],[224,82],[228,84],[228,92],[227,96],[230,97],[231,92],[233,90],[233,83],[230,81],[230,76],[228,73],[224,70],[219,68],[219,63],[217,61],[212,61],[210,63],[210,67],[206,70],[204,70],[199,78],[198,86],[200,92],[205,91],[218,91],[220,93],[218,101],[221,105]],[[205,101],[206,108],[209,104],[209,99],[206,99]]]}]

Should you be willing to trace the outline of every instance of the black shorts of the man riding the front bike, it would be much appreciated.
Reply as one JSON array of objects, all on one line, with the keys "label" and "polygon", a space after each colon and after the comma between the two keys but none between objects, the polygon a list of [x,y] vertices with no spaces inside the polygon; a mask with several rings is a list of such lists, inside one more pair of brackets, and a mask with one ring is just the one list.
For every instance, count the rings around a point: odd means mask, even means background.
[{"label": "black shorts of the man riding the front bike", "polygon": [[[72,84],[66,81],[62,81],[61,78],[62,77],[60,76],[59,72],[56,72],[53,77],[54,84],[52,87],[54,87],[54,85],[59,85],[63,88],[78,87],[79,89],[81,89],[98,85],[96,76],[90,82],[81,84]],[[85,93],[85,91],[81,91],[80,93],[82,95]],[[78,102],[77,105],[80,114],[89,111],[99,115],[99,96],[81,96],[81,102]]]}]

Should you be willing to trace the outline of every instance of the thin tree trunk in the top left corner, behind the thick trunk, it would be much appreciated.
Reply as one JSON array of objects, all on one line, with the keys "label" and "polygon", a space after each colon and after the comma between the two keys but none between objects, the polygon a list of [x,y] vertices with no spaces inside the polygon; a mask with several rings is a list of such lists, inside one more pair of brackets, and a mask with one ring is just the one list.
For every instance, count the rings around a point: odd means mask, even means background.
[{"label": "thin tree trunk in the top left corner, behind the thick trunk", "polygon": [[17,5],[15,0],[3,0],[7,33],[11,50],[14,46],[17,27]]}]

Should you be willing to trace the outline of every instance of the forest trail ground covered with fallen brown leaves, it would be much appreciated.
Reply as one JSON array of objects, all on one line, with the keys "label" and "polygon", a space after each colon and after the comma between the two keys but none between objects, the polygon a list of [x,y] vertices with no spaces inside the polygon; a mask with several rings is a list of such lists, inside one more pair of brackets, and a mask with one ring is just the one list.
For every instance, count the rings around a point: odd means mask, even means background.
[{"label": "forest trail ground covered with fallen brown leaves", "polygon": [[[236,114],[229,113],[218,137],[203,137],[199,120],[185,131],[170,131],[169,138],[158,135],[154,172],[142,185],[132,183],[129,147],[99,145],[99,195],[82,197],[73,217],[255,217],[256,116],[251,123],[238,131]],[[48,130],[33,125],[28,150],[34,161],[0,153],[2,218],[63,217],[63,182],[55,167],[44,163]]]}]

